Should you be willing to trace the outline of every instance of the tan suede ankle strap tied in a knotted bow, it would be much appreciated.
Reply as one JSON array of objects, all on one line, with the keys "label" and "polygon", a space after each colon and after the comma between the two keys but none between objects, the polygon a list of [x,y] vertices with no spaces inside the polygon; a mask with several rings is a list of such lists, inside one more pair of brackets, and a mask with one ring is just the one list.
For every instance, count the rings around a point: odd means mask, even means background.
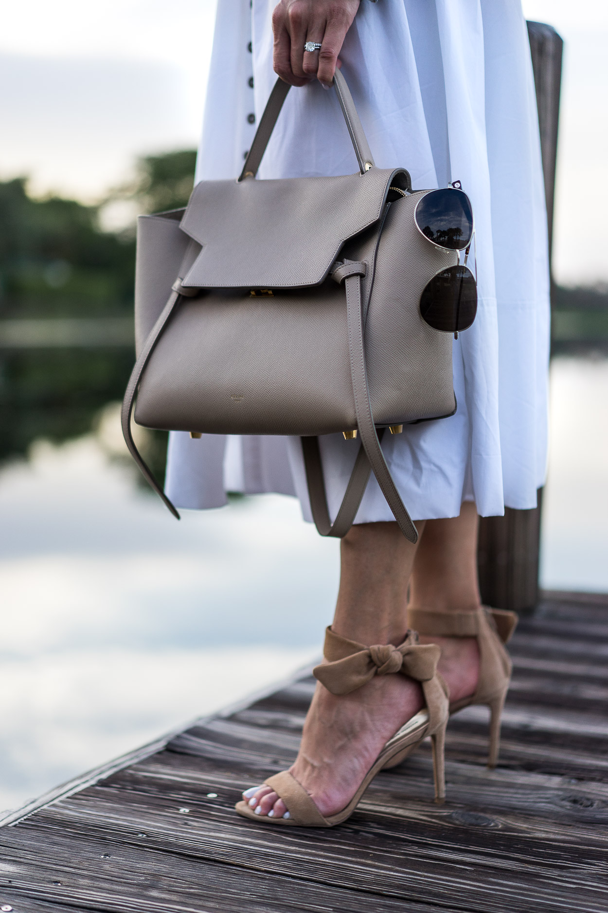
[{"label": "tan suede ankle strap tied in a knotted bow", "polygon": [[323,666],[314,666],[313,675],[332,694],[350,694],[366,685],[374,676],[395,673],[409,676],[418,682],[435,677],[440,656],[436,644],[418,644],[414,631],[408,631],[403,644],[357,644],[325,629]]}]

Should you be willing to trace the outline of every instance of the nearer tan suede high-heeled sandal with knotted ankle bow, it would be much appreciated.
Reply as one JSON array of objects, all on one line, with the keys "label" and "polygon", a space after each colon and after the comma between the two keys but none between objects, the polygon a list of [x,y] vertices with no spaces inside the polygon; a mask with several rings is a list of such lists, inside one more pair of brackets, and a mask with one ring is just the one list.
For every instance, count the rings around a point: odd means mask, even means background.
[{"label": "nearer tan suede high-heeled sandal with knotted ankle bow", "polygon": [[449,698],[448,687],[437,672],[440,656],[438,646],[419,644],[414,631],[408,631],[405,641],[399,646],[365,646],[336,635],[331,627],[328,627],[325,631],[324,656],[327,662],[322,666],[315,666],[313,674],[332,694],[350,694],[356,688],[366,685],[376,675],[401,673],[420,683],[426,709],[409,719],[405,726],[386,742],[376,761],[367,771],[364,781],[341,812],[325,818],[304,787],[289,771],[276,773],[265,781],[265,785],[272,787],[283,799],[289,818],[257,815],[244,800],[236,804],[236,811],[245,818],[265,824],[288,824],[292,827],[334,827],[335,824],[342,824],[355,811],[356,805],[376,773],[390,764],[397,754],[405,758],[427,736],[431,738],[433,750],[435,801],[443,802],[446,794],[444,745]]}]

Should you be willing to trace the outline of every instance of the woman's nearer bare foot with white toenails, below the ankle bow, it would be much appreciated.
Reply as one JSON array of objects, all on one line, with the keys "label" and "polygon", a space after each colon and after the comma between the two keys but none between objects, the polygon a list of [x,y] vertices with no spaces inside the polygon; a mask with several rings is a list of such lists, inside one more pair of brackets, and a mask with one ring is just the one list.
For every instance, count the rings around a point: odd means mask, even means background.
[{"label": "woman's nearer bare foot with white toenails, below the ankle bow", "polygon": [[[289,772],[325,817],[335,814],[353,798],[386,741],[423,707],[421,687],[402,675],[376,676],[340,696],[317,683]],[[252,787],[242,797],[256,814],[289,817],[270,786]]]}]

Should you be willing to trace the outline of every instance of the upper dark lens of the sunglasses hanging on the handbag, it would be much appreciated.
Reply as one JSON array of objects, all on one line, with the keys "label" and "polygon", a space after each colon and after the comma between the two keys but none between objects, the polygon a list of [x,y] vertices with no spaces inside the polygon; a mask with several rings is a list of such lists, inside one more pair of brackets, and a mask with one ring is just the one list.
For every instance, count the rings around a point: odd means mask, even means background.
[{"label": "upper dark lens of the sunglasses hanging on the handbag", "polygon": [[417,204],[416,223],[422,234],[439,247],[464,250],[473,235],[469,197],[453,187],[431,190]]}]

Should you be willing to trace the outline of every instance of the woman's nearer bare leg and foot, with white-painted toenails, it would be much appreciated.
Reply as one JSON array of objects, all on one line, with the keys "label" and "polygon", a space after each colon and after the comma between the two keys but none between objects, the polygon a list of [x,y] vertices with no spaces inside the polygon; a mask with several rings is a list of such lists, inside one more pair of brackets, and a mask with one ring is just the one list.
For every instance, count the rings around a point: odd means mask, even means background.
[{"label": "woman's nearer bare leg and foot, with white-painted toenails", "polygon": [[[418,531],[424,527],[417,524]],[[416,554],[397,523],[354,526],[342,540],[340,590],[333,627],[361,644],[394,644],[406,635],[407,586]],[[291,773],[322,814],[339,812],[397,729],[423,707],[417,682],[405,676],[375,677],[336,697],[317,684]],[[270,787],[245,794],[259,814],[282,816],[286,808]]]}]

